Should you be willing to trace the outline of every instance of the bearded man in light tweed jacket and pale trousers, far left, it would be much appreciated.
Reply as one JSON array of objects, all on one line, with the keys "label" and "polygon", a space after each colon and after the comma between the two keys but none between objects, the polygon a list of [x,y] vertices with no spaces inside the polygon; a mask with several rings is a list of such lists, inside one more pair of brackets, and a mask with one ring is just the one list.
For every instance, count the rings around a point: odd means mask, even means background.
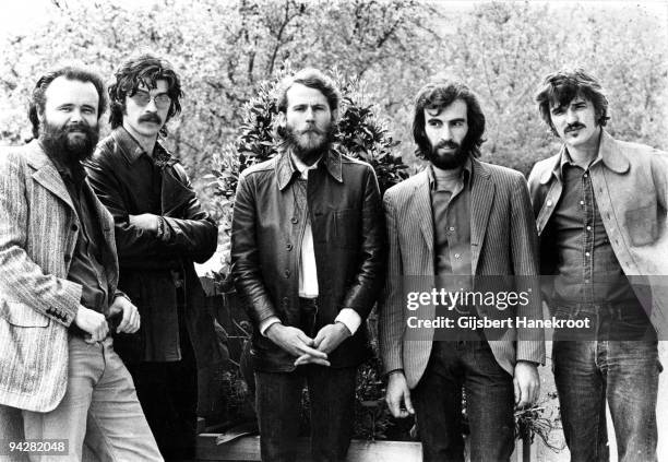
[{"label": "bearded man in light tweed jacket and pale trousers, far left", "polygon": [[100,460],[157,461],[108,336],[136,331],[139,313],[116,289],[114,220],[81,165],[105,105],[97,74],[48,72],[28,112],[36,140],[0,153],[0,438],[62,440],[59,461],[81,461],[84,440]]}]

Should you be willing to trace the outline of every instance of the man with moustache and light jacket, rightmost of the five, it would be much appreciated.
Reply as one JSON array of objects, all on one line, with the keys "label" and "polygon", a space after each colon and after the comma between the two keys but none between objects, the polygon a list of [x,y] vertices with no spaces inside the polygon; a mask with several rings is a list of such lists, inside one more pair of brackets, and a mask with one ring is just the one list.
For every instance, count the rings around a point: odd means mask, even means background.
[{"label": "man with moustache and light jacket, rightmost of the five", "polygon": [[607,403],[619,460],[656,461],[657,332],[668,333],[668,157],[604,129],[608,99],[583,69],[547,75],[536,100],[563,143],[529,176],[547,301],[558,318],[593,327],[552,344],[571,460],[609,459]]}]

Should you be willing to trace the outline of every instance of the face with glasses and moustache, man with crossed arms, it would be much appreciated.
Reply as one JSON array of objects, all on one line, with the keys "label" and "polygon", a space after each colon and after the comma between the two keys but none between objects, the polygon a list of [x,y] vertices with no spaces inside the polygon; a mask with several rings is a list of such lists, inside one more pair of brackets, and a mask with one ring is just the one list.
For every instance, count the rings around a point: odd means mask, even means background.
[{"label": "face with glasses and moustache, man with crossed arms", "polygon": [[171,106],[168,90],[167,81],[158,80],[155,88],[141,84],[134,95],[126,96],[126,130],[140,138],[157,138]]}]

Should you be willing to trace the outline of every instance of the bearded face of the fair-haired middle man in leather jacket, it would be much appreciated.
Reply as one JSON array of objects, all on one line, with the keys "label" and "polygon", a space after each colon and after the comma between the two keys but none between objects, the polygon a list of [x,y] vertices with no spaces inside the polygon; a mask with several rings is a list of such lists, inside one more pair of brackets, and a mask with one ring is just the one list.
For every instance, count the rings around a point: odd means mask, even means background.
[{"label": "bearded face of the fair-haired middle man in leather jacket", "polygon": [[286,138],[302,161],[318,155],[329,143],[334,115],[319,90],[294,84],[287,92],[284,117]]}]

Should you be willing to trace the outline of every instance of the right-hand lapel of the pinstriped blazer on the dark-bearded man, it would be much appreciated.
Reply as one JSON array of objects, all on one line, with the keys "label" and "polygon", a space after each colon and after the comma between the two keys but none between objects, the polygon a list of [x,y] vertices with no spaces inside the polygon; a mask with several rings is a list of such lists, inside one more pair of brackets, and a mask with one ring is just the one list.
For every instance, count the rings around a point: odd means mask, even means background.
[{"label": "right-hand lapel of the pinstriped blazer on the dark-bearded man", "polygon": [[470,251],[472,270],[476,274],[480,249],[485,241],[485,232],[491,205],[494,200],[494,183],[489,171],[478,161],[473,161],[474,175],[470,190]]}]

